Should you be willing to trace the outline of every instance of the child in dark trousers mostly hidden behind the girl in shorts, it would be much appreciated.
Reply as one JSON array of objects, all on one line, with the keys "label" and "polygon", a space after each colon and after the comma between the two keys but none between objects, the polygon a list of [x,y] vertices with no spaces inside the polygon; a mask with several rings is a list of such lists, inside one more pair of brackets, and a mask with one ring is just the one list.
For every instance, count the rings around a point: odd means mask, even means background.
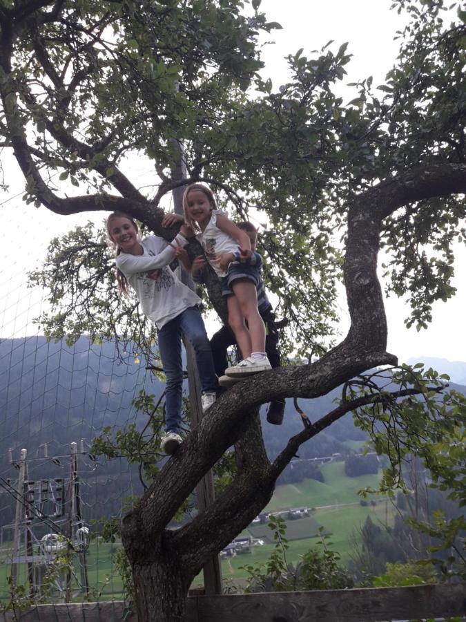
[{"label": "child in dark trousers mostly hidden behind the girl in shorts", "polygon": [[[239,229],[243,229],[248,235],[251,241],[251,250],[254,253],[255,247],[258,243],[258,230],[252,223],[237,223]],[[262,317],[265,328],[265,351],[269,358],[272,368],[280,367],[280,353],[278,352],[278,331],[275,326],[275,315],[272,311],[272,305],[267,298],[264,283],[262,279],[257,285],[258,292],[258,310]],[[213,363],[215,366],[215,373],[219,378],[220,386],[232,386],[238,379],[224,375],[225,369],[228,366],[226,359],[226,350],[229,346],[236,344],[235,335],[233,330],[229,326],[222,326],[211,339],[211,348],[213,355]],[[283,422],[284,415],[284,400],[274,400],[269,404],[267,409],[267,421],[271,424],[280,425]]]}]

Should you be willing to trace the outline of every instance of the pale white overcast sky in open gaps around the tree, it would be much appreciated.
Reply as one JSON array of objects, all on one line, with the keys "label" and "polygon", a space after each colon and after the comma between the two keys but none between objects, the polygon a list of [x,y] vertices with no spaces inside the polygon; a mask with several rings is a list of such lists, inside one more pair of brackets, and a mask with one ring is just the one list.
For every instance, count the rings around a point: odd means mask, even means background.
[{"label": "pale white overcast sky in open gaps around the tree", "polygon": [[[335,48],[349,41],[348,52],[353,59],[348,67],[348,77],[342,82],[341,95],[345,97],[344,82],[355,82],[373,75],[374,84],[383,82],[385,73],[396,61],[398,45],[394,41],[396,30],[403,26],[403,19],[390,11],[390,0],[262,0],[260,9],[269,21],[278,21],[283,30],[273,31],[266,40],[274,39],[274,45],[264,46],[266,62],[264,77],[271,77],[277,88],[287,80],[287,63],[284,56],[304,48],[304,54],[320,49],[333,39]],[[43,257],[45,247],[52,236],[74,227],[88,216],[60,218],[46,209],[26,206],[21,202],[23,179],[6,150],[1,159],[7,164],[10,193],[0,196],[0,215],[3,224],[3,243],[0,246],[0,335],[20,337],[36,332],[30,321],[41,308],[39,292],[26,290],[24,275],[35,267]],[[144,185],[141,180],[141,185]],[[19,194],[19,196],[16,196]],[[93,219],[101,221],[103,214]],[[5,236],[5,232],[7,235]],[[427,331],[406,330],[403,319],[406,303],[398,299],[387,301],[389,320],[388,350],[405,361],[409,357],[443,357],[466,360],[464,337],[464,309],[466,252],[458,249],[456,279],[458,294],[447,304],[434,307],[434,322]],[[339,305],[342,323],[347,321],[344,299]]]}]

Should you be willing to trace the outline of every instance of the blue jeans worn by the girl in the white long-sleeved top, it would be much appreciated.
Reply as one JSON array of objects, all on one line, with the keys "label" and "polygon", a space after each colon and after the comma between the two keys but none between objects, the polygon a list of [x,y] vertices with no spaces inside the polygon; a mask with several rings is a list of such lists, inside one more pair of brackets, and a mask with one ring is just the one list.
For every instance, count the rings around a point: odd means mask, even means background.
[{"label": "blue jeans worn by the girl in the white long-sleeved top", "polygon": [[200,310],[189,307],[167,322],[157,334],[160,358],[166,377],[165,424],[166,431],[178,432],[182,412],[183,364],[181,355],[182,332],[194,348],[197,373],[203,391],[217,390],[212,350]]}]

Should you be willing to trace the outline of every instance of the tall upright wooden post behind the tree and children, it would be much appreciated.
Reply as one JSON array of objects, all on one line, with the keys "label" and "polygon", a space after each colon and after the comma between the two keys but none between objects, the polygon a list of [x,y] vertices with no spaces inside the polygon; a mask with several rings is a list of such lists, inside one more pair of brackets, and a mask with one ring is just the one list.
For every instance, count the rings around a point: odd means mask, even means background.
[{"label": "tall upright wooden post behind the tree and children", "polygon": [[[173,169],[174,179],[186,179],[186,167],[182,159],[183,149],[182,144],[176,141],[179,149],[180,158],[177,162],[175,169]],[[175,214],[183,214],[183,193],[184,187],[180,186],[173,190],[173,205],[175,207]],[[194,290],[193,279],[191,275],[187,274],[185,270],[179,268],[181,272],[181,280],[185,285],[188,285],[191,290]],[[186,364],[188,367],[188,390],[189,390],[189,404],[191,407],[191,425],[193,428],[197,427],[202,420],[202,406],[201,406],[201,387],[199,377],[197,376],[197,366],[195,364],[195,353],[193,346],[187,339],[184,339],[184,347],[186,349]],[[213,485],[213,473],[208,471],[206,475],[198,482],[196,486],[196,498],[197,509],[202,512],[206,507],[213,503],[215,499],[215,491]],[[204,568],[202,569],[204,574],[204,590],[206,595],[222,594],[222,570],[220,568],[220,558],[218,555],[213,556],[208,560]]]}]

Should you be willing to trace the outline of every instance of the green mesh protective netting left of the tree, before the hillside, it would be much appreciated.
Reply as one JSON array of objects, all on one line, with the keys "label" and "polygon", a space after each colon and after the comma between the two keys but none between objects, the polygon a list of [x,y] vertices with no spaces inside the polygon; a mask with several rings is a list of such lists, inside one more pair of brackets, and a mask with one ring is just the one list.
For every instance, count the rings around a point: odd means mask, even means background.
[{"label": "green mesh protective netting left of the tree, before the hillside", "polygon": [[121,545],[95,537],[97,522],[121,516],[142,484],[126,460],[93,456],[90,442],[104,426],[144,426],[132,401],[144,386],[155,395],[163,386],[143,359],[119,359],[113,343],[48,342],[32,322],[46,302],[27,287],[27,272],[40,267],[52,237],[88,215],[58,217],[14,193],[0,204],[8,232],[0,245],[0,599],[12,586],[17,600],[46,592],[49,602],[117,599]]}]

